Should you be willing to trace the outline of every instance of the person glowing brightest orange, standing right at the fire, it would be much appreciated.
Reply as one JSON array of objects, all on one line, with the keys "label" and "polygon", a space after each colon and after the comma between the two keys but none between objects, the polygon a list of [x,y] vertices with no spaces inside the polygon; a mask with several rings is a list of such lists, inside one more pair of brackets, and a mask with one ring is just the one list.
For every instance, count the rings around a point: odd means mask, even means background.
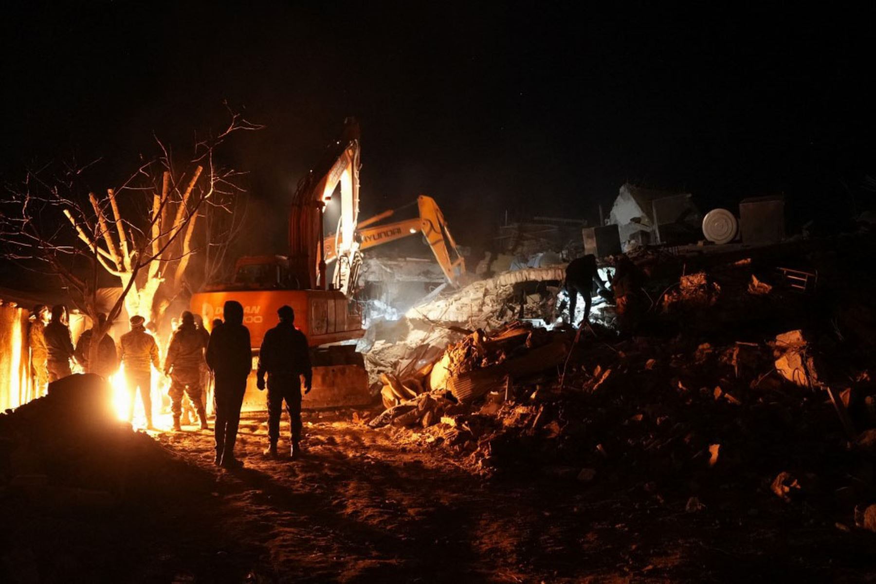
[{"label": "person glowing brightest orange, standing right at the fire", "polygon": [[152,364],[155,369],[161,369],[159,362],[159,346],[152,334],[146,332],[142,316],[131,317],[131,331],[119,339],[121,353],[119,359],[124,367],[124,381],[128,385],[129,408],[128,421],[134,419],[134,399],[140,390],[143,401],[143,412],[146,416],[146,427],[152,429]]}]

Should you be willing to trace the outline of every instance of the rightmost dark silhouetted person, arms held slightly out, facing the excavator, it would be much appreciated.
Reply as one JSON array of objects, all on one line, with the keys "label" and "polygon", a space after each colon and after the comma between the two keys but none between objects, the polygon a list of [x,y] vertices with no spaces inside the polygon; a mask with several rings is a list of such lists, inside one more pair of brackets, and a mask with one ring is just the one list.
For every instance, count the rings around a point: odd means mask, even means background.
[{"label": "rightmost dark silhouetted person, arms held slightly out, facing the excavator", "polygon": [[265,454],[277,455],[279,440],[279,417],[286,401],[286,412],[292,426],[292,458],[300,455],[301,440],[301,376],[304,376],[304,392],[310,391],[313,373],[310,369],[310,349],[307,337],[295,328],[295,313],[291,306],[280,306],[277,311],[279,324],[265,333],[265,340],[258,353],[258,389],[265,389],[265,373],[268,375],[268,439],[271,440]]}]

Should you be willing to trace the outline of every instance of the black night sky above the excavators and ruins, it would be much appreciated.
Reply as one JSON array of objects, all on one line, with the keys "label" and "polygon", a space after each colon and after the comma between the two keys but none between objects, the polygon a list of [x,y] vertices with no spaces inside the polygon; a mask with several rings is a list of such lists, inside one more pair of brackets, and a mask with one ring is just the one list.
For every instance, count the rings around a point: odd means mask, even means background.
[{"label": "black night sky above the excavators and ruins", "polygon": [[798,221],[872,208],[871,13],[23,4],[0,35],[3,179],[98,157],[117,179],[153,133],[181,150],[219,127],[227,100],[267,126],[227,151],[250,172],[252,251],[282,250],[276,209],[350,115],[364,216],[427,193],[462,243],[505,210],[593,219],[625,180],[704,210],[781,192]]}]

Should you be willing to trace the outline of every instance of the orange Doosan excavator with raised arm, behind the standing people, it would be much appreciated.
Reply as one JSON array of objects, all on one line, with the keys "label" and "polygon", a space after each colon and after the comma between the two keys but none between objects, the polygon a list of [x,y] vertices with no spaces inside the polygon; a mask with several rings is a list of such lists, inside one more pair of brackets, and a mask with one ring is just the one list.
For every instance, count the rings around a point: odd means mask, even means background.
[{"label": "orange Doosan excavator with raised arm, behind the standing people", "polygon": [[[295,326],[307,335],[314,365],[312,390],[304,396],[304,407],[365,405],[371,399],[364,359],[351,342],[364,335],[362,313],[348,298],[362,264],[356,237],[359,156],[359,127],[348,118],[320,164],[299,181],[289,215],[289,255],[242,257],[231,282],[208,285],[192,296],[192,312],[201,314],[208,328],[222,317],[226,300],[244,306],[253,363],[265,332],[277,323],[277,309],[292,306]],[[332,238],[336,265],[329,282],[322,213],[326,202],[336,196],[341,198],[341,218]],[[265,394],[256,389],[251,375],[244,410],[264,409]]]}]

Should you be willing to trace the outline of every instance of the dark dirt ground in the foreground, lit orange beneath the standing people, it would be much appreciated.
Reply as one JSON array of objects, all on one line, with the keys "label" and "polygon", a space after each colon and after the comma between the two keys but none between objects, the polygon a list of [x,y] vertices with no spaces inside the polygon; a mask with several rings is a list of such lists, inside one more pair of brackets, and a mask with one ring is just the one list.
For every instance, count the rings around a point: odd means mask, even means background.
[{"label": "dark dirt ground in the foreground, lit orange beneath the standing people", "polygon": [[686,496],[483,479],[347,420],[308,416],[305,456],[272,461],[263,420],[246,419],[236,471],[215,468],[210,433],[160,433],[197,480],[151,506],[6,500],[4,568],[12,581],[876,580],[871,534],[767,492],[688,512]]}]

